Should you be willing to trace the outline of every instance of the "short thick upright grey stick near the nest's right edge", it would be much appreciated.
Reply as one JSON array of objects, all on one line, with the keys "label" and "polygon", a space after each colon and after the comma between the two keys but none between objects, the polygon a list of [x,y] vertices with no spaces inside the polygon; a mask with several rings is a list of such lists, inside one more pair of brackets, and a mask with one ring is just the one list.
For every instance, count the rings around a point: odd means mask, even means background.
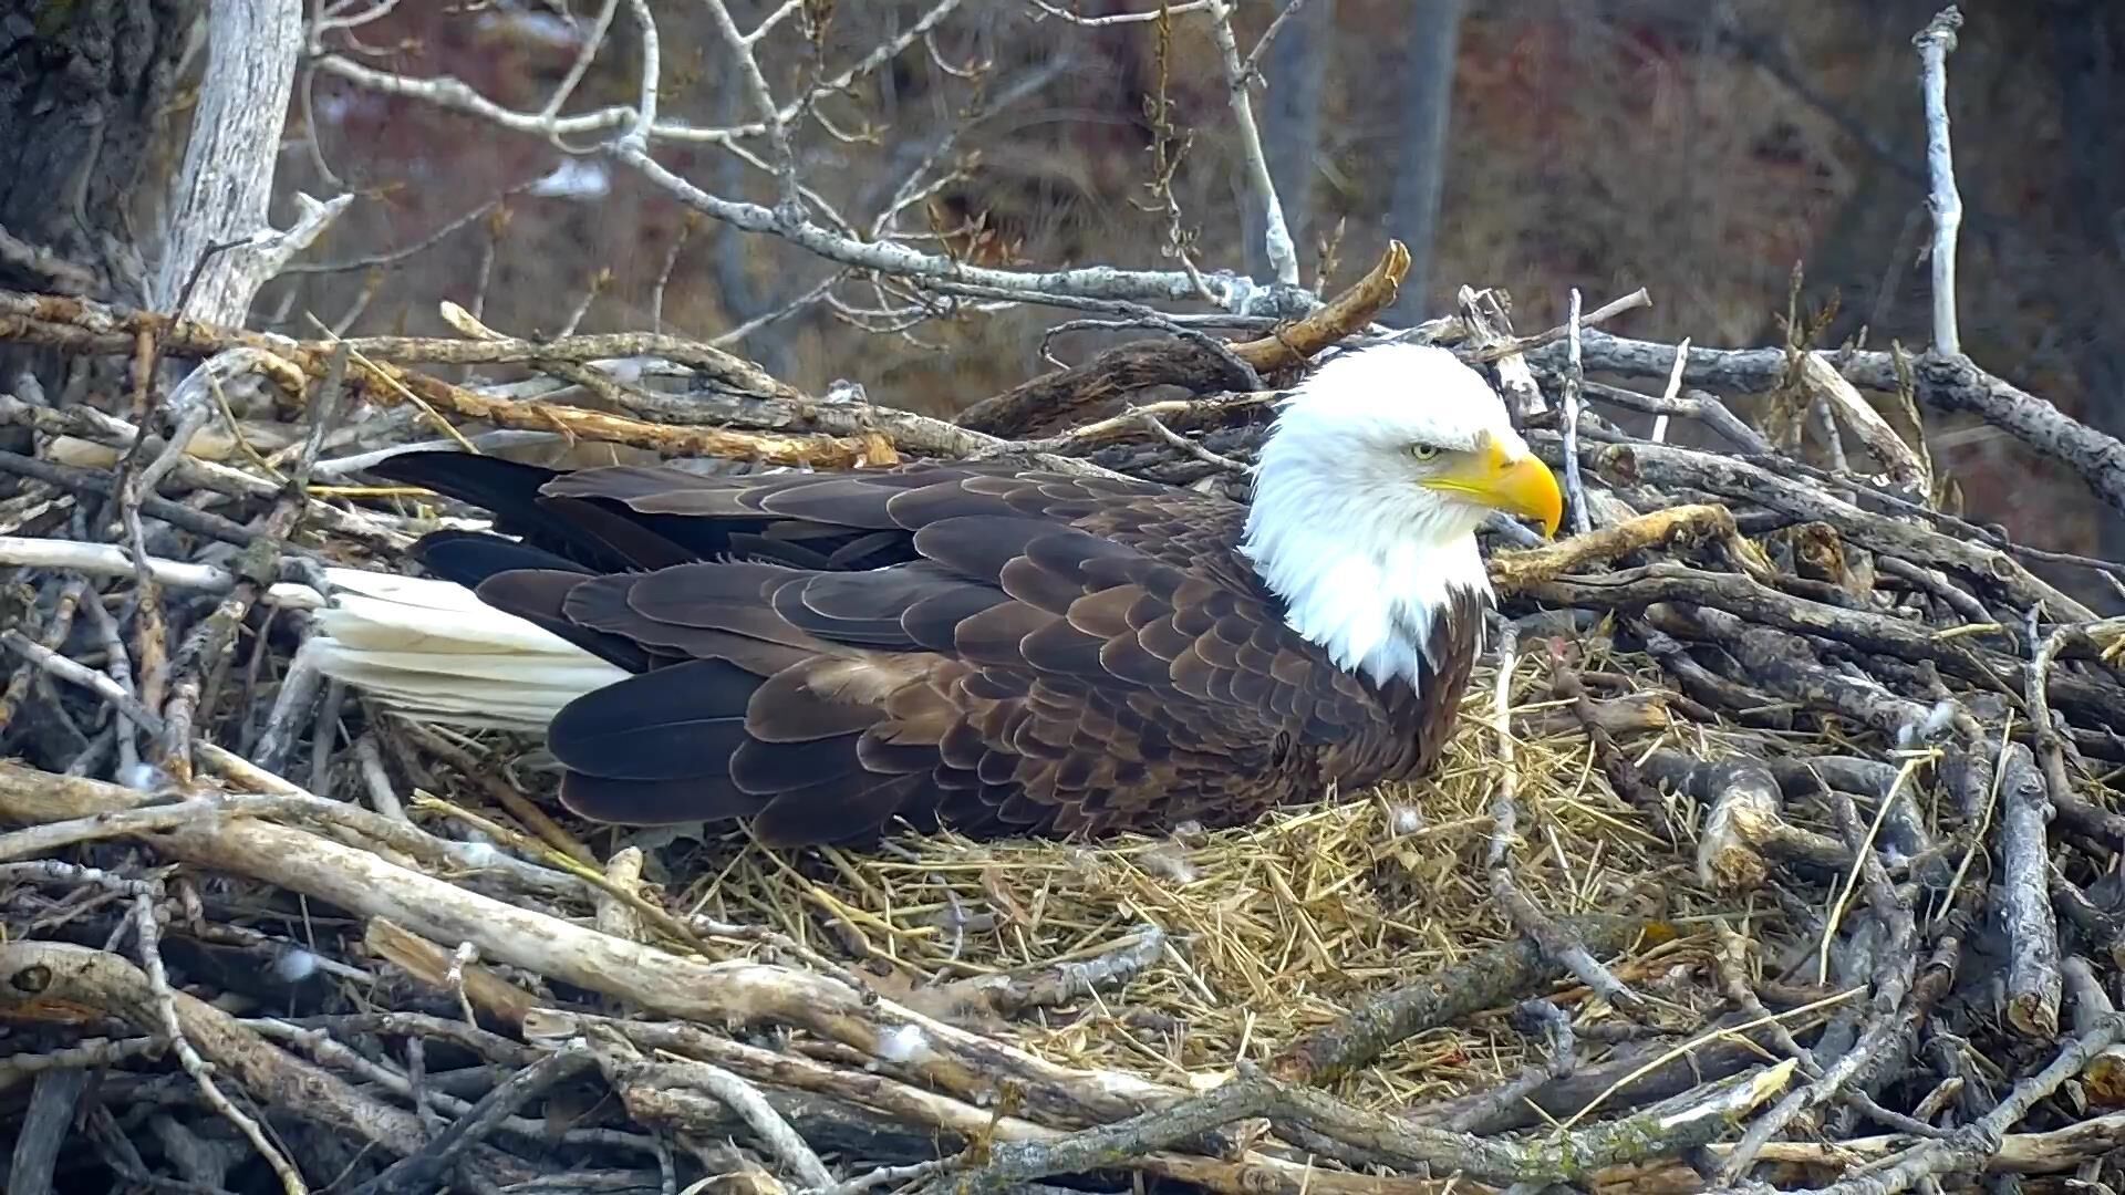
[{"label": "short thick upright grey stick near the nest's right edge", "polygon": [[2029,1038],[2059,1036],[2059,923],[2051,912],[2044,825],[2051,800],[2027,746],[2000,751],[2000,921],[2006,925],[2006,1021]]}]

